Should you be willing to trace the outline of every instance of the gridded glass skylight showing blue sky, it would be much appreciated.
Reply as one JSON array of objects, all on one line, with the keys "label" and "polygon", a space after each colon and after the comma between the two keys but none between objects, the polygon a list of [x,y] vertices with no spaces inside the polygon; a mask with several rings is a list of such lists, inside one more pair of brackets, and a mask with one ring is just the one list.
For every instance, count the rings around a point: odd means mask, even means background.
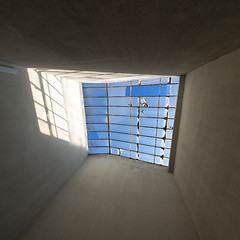
[{"label": "gridded glass skylight showing blue sky", "polygon": [[83,83],[89,154],[168,166],[179,77]]}]

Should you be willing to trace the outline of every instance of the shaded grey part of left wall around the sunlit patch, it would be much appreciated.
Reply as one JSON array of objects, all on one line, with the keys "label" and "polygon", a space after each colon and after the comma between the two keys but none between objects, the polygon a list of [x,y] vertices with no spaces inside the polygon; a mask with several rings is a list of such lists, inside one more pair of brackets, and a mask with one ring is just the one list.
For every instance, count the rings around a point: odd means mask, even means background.
[{"label": "shaded grey part of left wall around the sunlit patch", "polygon": [[[28,72],[0,73],[0,239],[15,239],[87,157],[40,132]],[[84,135],[84,134],[83,134]]]}]

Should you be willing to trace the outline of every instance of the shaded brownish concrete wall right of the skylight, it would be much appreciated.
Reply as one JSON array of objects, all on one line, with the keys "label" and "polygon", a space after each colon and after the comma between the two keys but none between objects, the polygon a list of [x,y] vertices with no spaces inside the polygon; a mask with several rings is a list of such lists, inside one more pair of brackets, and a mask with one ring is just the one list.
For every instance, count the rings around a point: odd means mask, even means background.
[{"label": "shaded brownish concrete wall right of the skylight", "polygon": [[175,177],[201,239],[240,237],[240,50],[187,74]]}]

